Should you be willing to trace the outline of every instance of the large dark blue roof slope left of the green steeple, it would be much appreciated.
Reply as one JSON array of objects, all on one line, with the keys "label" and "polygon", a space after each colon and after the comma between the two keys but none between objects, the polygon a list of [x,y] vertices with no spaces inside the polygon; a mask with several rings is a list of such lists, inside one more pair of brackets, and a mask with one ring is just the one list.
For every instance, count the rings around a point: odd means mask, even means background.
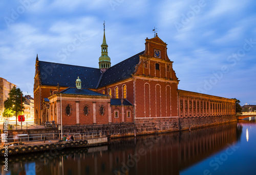
[{"label": "large dark blue roof slope left of the green steeple", "polygon": [[79,76],[82,88],[95,89],[101,75],[101,71],[96,68],[46,61],[39,61],[39,70],[42,85],[56,86],[59,83],[60,86],[66,87],[75,87]]}]

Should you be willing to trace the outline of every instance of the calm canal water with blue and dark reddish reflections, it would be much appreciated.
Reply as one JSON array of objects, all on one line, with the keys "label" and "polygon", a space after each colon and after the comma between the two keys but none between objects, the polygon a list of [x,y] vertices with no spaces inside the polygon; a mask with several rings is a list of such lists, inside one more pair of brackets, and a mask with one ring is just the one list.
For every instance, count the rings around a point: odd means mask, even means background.
[{"label": "calm canal water with blue and dark reddish reflections", "polygon": [[1,157],[1,174],[255,174],[256,121]]}]

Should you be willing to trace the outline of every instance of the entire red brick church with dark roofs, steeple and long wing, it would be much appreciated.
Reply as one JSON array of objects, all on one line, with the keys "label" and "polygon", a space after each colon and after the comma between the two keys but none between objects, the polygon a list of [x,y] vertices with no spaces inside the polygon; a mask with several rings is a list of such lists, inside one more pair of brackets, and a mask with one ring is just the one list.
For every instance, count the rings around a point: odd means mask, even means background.
[{"label": "entire red brick church with dark roofs, steeple and long wing", "polygon": [[145,39],[144,51],[111,66],[104,29],[98,69],[37,56],[35,121],[81,128],[128,124],[147,134],[198,127],[216,117],[219,123],[234,120],[235,100],[178,90],[166,46],[156,34]]}]

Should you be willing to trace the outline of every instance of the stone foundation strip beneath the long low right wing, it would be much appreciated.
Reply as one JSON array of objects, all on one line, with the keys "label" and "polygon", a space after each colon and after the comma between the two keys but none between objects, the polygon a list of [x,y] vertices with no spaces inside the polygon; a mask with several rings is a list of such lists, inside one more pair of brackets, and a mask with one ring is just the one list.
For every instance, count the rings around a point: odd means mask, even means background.
[{"label": "stone foundation strip beneath the long low right wing", "polygon": [[180,118],[179,129],[188,130],[189,128],[205,127],[232,121],[237,121],[236,115]]}]

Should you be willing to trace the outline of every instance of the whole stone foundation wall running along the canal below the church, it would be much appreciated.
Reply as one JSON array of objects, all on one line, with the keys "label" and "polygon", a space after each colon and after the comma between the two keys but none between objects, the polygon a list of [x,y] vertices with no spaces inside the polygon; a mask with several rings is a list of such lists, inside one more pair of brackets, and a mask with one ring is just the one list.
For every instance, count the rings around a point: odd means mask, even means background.
[{"label": "whole stone foundation wall running along the canal below the church", "polygon": [[[179,130],[189,130],[233,121],[237,121],[236,115],[191,118],[136,118],[135,123],[63,126],[63,133],[102,132],[102,135],[116,138],[154,133],[176,132]],[[9,130],[8,135],[11,136],[13,132],[15,132],[15,130]],[[57,128],[47,128],[17,130],[17,132],[19,134],[47,134],[59,133],[59,130],[57,130]]]}]

